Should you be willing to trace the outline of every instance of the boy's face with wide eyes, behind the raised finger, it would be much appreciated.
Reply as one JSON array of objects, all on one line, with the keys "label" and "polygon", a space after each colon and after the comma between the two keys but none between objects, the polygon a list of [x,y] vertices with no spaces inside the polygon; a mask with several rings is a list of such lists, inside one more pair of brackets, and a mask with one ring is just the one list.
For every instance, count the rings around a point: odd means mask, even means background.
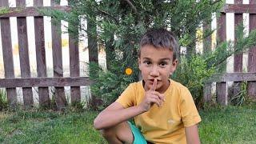
[{"label": "boy's face with wide eyes, behind the raised finger", "polygon": [[139,70],[145,82],[144,89],[150,90],[154,79],[158,80],[156,90],[164,93],[169,87],[169,76],[176,69],[178,61],[173,61],[173,52],[168,49],[155,48],[151,45],[141,47],[141,56],[138,58]]}]

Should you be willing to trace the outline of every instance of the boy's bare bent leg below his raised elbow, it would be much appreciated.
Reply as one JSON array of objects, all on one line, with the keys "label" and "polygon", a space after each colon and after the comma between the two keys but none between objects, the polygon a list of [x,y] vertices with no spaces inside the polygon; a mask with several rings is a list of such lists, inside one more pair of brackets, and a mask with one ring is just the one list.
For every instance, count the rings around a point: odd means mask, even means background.
[{"label": "boy's bare bent leg below his raised elbow", "polygon": [[134,135],[130,130],[128,122],[122,122],[117,126],[100,130],[102,136],[109,143],[130,143],[134,142]]}]

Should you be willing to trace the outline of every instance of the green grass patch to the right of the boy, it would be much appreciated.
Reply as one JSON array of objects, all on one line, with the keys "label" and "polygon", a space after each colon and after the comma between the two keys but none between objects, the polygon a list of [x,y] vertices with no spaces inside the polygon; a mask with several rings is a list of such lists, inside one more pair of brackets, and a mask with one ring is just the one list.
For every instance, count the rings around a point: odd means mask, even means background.
[{"label": "green grass patch to the right of the boy", "polygon": [[256,106],[228,106],[200,114],[202,143],[256,144]]}]

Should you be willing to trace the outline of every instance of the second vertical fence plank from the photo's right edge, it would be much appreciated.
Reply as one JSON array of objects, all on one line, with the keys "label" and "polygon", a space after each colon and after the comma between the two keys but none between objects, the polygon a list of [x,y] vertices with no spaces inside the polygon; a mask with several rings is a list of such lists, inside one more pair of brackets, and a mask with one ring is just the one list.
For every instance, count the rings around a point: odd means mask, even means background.
[{"label": "second vertical fence plank from the photo's right edge", "polygon": [[[241,4],[241,0],[235,0],[235,4]],[[234,14],[234,28],[238,25],[242,25],[242,14]],[[236,32],[234,31],[234,42],[237,41]],[[242,72],[242,53],[234,54],[234,72]],[[237,95],[241,91],[241,82],[234,82],[233,96]]]}]

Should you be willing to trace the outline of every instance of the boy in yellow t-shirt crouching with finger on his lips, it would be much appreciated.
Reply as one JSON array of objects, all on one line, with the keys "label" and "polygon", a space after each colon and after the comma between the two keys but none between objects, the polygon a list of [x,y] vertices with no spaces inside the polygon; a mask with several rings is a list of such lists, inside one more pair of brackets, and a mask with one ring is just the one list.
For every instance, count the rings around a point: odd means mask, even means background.
[{"label": "boy in yellow t-shirt crouching with finger on his lips", "polygon": [[[110,143],[200,143],[201,118],[190,91],[169,79],[178,65],[178,42],[164,29],[141,39],[138,66],[141,82],[131,83],[116,102],[94,120]],[[134,118],[136,126],[126,122]]]}]

